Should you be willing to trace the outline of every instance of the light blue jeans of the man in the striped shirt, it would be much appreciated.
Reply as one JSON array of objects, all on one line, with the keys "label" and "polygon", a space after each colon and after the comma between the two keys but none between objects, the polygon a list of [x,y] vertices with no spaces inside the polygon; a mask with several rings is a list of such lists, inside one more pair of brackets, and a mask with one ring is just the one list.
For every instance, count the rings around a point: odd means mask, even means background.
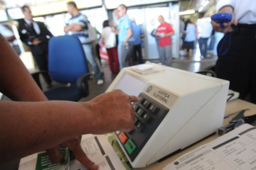
[{"label": "light blue jeans of the man in the striped shirt", "polygon": [[100,72],[100,69],[98,68],[96,59],[93,55],[93,49],[92,49],[92,44],[83,44],[83,51],[86,56],[86,60],[92,65],[92,68],[95,72],[95,77],[97,80],[103,79],[102,74]]}]

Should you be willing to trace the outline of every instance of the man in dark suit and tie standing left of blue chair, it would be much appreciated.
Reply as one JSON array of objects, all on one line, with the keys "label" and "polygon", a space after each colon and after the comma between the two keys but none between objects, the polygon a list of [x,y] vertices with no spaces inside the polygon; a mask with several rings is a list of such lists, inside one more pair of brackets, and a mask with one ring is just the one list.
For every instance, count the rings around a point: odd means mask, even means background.
[{"label": "man in dark suit and tie standing left of blue chair", "polygon": [[20,40],[30,47],[31,53],[39,70],[46,71],[43,78],[47,87],[52,86],[52,79],[48,74],[48,41],[53,34],[44,23],[33,21],[31,10],[28,6],[21,7],[24,19],[19,21],[18,32]]}]

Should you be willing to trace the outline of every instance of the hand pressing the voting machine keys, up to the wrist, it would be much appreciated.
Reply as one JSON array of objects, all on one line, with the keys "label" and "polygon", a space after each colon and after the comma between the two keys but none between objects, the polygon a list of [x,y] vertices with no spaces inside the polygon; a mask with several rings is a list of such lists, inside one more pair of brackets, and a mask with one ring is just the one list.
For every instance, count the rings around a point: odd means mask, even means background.
[{"label": "hand pressing the voting machine keys, up to the wrist", "polygon": [[101,94],[91,100],[89,108],[94,118],[92,134],[105,134],[134,129],[134,109],[131,102],[138,97],[129,96],[121,90]]}]

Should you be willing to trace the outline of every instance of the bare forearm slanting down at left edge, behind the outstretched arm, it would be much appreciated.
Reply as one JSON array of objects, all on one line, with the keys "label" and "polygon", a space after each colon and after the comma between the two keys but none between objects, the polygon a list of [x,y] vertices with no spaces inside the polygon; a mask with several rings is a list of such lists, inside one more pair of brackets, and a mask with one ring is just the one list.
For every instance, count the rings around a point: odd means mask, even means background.
[{"label": "bare forearm slanting down at left edge, behind the outstretched arm", "polygon": [[19,56],[0,36],[0,91],[16,101],[46,101]]}]

